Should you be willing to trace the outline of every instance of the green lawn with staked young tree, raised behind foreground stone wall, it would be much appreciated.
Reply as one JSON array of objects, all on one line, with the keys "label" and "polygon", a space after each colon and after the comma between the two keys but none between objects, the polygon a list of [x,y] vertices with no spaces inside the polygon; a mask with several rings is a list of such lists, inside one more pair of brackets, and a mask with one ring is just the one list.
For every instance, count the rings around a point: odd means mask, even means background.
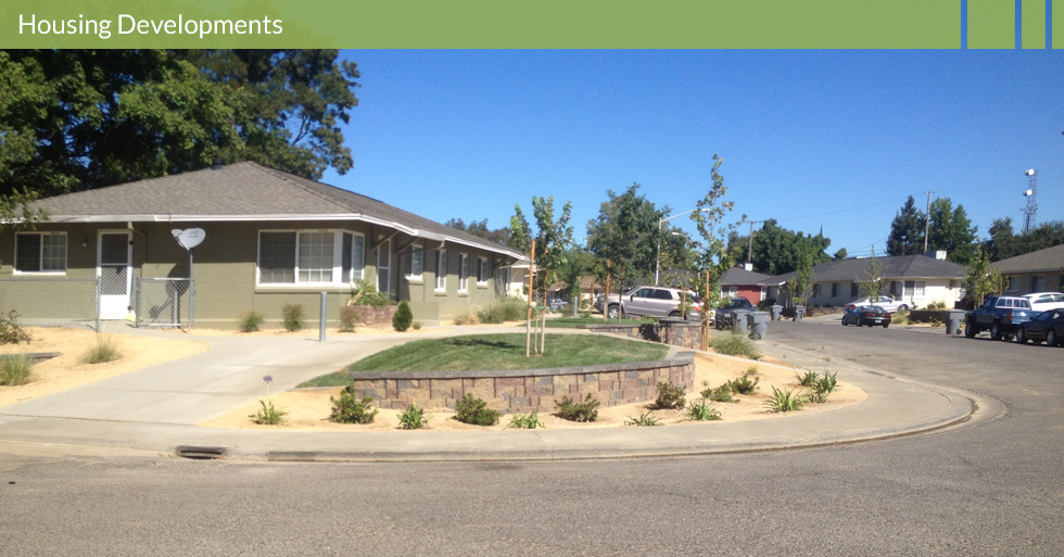
[{"label": "green lawn with staked young tree, raised behind foreground stone wall", "polygon": [[[549,322],[549,321],[548,321]],[[474,334],[408,342],[300,387],[345,387],[351,371],[539,369],[661,359],[669,346],[593,334],[548,334],[546,353],[524,357],[524,334]]]}]

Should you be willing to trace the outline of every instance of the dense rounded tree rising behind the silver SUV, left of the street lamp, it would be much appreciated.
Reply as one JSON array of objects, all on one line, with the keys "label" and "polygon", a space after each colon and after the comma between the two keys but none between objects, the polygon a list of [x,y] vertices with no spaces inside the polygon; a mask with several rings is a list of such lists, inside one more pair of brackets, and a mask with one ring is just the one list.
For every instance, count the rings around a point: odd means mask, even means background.
[{"label": "dense rounded tree rising behind the silver SUV, left of the street lamp", "polygon": [[654,276],[659,246],[663,240],[668,246],[667,238],[671,238],[659,229],[669,207],[659,210],[638,191],[638,183],[620,195],[607,191],[598,216],[587,223],[587,249],[609,261],[611,278],[620,290]]}]

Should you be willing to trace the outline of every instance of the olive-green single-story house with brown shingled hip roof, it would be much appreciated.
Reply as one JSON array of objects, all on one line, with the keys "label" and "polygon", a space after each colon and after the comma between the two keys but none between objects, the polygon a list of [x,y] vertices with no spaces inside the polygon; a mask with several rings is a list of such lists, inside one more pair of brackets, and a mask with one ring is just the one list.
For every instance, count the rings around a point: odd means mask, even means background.
[{"label": "olive-green single-story house with brown shingled hip roof", "polygon": [[[100,278],[100,318],[135,311],[139,279],[195,279],[197,327],[232,328],[287,304],[328,318],[368,281],[434,322],[497,299],[515,250],[347,190],[252,162],[68,193],[34,203],[49,219],[0,238],[0,289]],[[190,254],[182,230],[205,238]],[[191,266],[191,268],[190,268]],[[7,296],[4,300],[11,300]],[[0,308],[8,311],[9,308]],[[16,308],[17,309],[17,308]]]}]

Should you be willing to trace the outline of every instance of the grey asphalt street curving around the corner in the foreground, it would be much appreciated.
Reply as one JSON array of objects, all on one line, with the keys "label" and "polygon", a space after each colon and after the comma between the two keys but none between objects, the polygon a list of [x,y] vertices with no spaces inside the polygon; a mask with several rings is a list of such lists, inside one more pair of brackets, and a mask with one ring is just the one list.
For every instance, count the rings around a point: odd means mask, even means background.
[{"label": "grey asphalt street curving around the corner in the foreground", "polygon": [[0,555],[1064,554],[1064,349],[833,321],[770,336],[840,375],[856,362],[1005,413],[840,446],[569,461],[192,461],[14,444],[0,447]]}]

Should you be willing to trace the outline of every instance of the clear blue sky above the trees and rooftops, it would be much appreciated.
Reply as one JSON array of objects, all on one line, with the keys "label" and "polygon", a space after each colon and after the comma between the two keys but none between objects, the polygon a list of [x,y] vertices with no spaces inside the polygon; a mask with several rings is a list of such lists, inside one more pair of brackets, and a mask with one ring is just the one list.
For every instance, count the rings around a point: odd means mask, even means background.
[{"label": "clear blue sky above the trees and rooftops", "polygon": [[[574,236],[633,182],[672,214],[708,191],[713,153],[751,220],[866,255],[926,191],[980,237],[1064,218],[1064,67],[1043,51],[355,50],[355,166],[324,180],[444,221],[507,226],[531,199],[573,204]],[[672,221],[692,232],[686,217]],[[749,230],[748,226],[743,229]]]}]

